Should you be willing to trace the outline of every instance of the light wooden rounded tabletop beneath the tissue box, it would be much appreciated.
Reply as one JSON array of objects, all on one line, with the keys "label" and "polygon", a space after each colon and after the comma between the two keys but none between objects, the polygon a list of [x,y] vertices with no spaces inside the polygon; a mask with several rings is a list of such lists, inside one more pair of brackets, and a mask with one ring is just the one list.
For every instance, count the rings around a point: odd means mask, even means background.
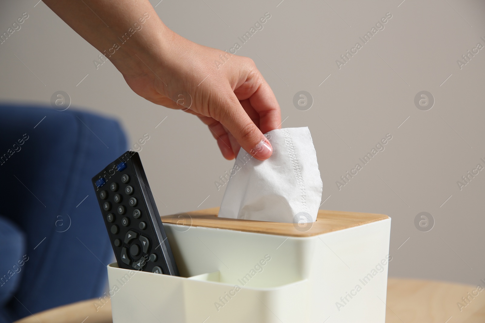
[{"label": "light wooden rounded tabletop beneath the tissue box", "polygon": [[[476,286],[471,285],[389,278],[386,323],[484,323],[485,291],[480,292],[461,311],[456,305],[462,297],[475,289]],[[52,308],[16,323],[112,322],[111,303],[96,311],[93,305],[95,301],[87,300]]]}]

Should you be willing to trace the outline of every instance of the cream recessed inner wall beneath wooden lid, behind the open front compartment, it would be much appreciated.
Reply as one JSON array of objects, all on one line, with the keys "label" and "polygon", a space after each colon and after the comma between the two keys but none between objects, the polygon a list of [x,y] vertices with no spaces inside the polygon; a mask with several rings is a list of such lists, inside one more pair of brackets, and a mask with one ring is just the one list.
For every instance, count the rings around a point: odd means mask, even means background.
[{"label": "cream recessed inner wall beneath wooden lid, behind the open front compartment", "polygon": [[219,282],[241,287],[273,288],[304,279],[315,245],[313,239],[252,232],[164,228],[183,276],[218,271]]}]

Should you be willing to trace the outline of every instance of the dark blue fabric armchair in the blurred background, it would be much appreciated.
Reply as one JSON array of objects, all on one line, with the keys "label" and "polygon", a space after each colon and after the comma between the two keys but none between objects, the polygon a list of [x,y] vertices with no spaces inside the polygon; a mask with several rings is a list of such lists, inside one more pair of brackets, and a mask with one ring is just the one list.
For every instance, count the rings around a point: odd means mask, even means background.
[{"label": "dark blue fabric armchair in the blurred background", "polygon": [[102,294],[113,250],[91,178],[126,149],[112,119],[0,105],[0,278],[23,261],[0,279],[0,320]]}]

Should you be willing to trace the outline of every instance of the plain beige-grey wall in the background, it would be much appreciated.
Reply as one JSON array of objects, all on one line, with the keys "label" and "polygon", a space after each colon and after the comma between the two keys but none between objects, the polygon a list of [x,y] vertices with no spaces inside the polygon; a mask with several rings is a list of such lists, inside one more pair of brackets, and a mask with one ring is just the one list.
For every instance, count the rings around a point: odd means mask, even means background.
[{"label": "plain beige-grey wall in the background", "polygon": [[[485,5],[400,2],[163,0],[156,10],[174,31],[220,49],[240,42],[238,37],[269,12],[263,30],[237,54],[251,57],[272,86],[287,118],[283,126],[310,128],[322,198],[330,196],[321,208],[389,215],[390,276],[478,284],[485,278],[485,171],[462,190],[456,182],[478,163],[485,166],[480,160],[485,159],[485,49],[462,69],[457,60],[478,42],[485,45],[480,38],[485,38]],[[73,107],[116,116],[131,144],[150,135],[141,156],[163,201],[161,214],[219,206],[224,192],[214,181],[232,162],[220,155],[206,126],[130,92],[110,62],[96,69],[98,51],[43,2],[35,4],[1,5],[2,33],[22,13],[29,18],[0,45],[0,98],[49,105],[51,94],[62,90]],[[388,12],[392,18],[385,29],[339,69],[339,56],[362,44],[359,37]],[[307,111],[292,103],[302,90],[314,100]],[[428,111],[414,104],[420,91],[435,98]],[[340,176],[388,133],[392,139],[385,150],[339,190]],[[415,227],[420,212],[434,217],[431,231]]]}]

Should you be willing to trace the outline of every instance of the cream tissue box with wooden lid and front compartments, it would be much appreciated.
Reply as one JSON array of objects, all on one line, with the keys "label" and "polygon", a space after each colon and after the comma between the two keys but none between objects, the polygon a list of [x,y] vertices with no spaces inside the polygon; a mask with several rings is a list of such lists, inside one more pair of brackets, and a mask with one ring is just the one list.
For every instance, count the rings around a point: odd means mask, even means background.
[{"label": "cream tissue box with wooden lid and front compartments", "polygon": [[387,215],[320,210],[299,227],[218,211],[162,216],[181,277],[108,265],[113,323],[385,322]]}]

